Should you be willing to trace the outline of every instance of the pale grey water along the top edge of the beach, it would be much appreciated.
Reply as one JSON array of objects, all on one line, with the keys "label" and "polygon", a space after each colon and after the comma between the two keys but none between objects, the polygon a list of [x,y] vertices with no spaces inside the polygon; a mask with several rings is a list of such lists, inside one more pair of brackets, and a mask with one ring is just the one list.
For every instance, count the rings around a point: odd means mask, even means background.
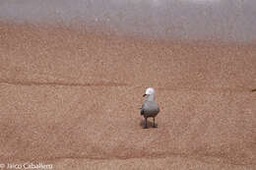
[{"label": "pale grey water along the top edge of the beach", "polygon": [[256,2],[246,0],[2,0],[0,20],[85,24],[153,38],[256,40]]}]

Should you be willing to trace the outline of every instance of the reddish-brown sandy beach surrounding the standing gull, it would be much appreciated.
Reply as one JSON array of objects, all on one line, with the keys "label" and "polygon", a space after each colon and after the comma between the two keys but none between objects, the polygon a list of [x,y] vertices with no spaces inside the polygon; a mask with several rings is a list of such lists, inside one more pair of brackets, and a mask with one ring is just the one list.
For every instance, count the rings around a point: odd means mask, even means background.
[{"label": "reddish-brown sandy beach surrounding the standing gull", "polygon": [[[254,44],[7,23],[0,23],[0,42],[1,162],[256,168]],[[161,112],[158,129],[144,130],[139,108],[148,86],[156,88]]]}]

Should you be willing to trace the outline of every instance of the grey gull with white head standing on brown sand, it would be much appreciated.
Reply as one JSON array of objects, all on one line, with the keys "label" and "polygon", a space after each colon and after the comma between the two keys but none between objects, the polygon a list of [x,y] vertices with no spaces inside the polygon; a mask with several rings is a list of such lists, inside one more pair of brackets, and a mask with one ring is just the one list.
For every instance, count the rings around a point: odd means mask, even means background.
[{"label": "grey gull with white head standing on brown sand", "polygon": [[155,98],[156,98],[155,89],[153,87],[148,87],[143,96],[147,97],[147,101],[145,101],[145,103],[142,105],[142,108],[141,108],[141,115],[144,116],[145,118],[144,129],[148,129],[147,119],[149,117],[153,117],[153,121],[154,121],[153,128],[157,128],[157,126],[155,125],[155,117],[160,113],[160,107],[158,103],[155,101]]}]

